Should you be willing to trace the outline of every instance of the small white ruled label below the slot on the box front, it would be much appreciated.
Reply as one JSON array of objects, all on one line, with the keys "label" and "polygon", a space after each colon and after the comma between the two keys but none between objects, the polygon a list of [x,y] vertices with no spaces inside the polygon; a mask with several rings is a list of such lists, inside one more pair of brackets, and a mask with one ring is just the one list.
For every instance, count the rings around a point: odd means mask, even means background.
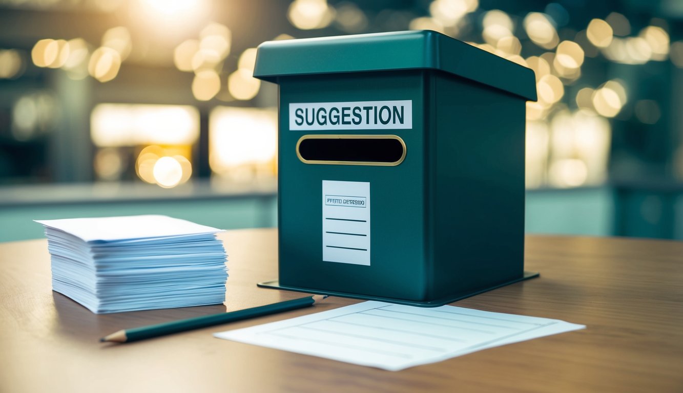
[{"label": "small white ruled label below the slot on the box front", "polygon": [[370,265],[370,183],[322,181],[322,260]]}]

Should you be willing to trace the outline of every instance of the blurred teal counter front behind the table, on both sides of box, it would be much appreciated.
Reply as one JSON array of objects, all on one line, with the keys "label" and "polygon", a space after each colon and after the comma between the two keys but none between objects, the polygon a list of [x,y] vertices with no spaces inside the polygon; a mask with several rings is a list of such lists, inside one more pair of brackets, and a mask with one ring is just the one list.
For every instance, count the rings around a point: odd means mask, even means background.
[{"label": "blurred teal counter front behind the table, on both sides of box", "polygon": [[[220,229],[277,227],[277,196],[265,192],[147,201],[0,201],[0,242],[44,237],[42,225],[33,220],[135,214],[165,214]],[[526,233],[683,239],[681,192],[609,187],[528,190],[525,216]]]}]

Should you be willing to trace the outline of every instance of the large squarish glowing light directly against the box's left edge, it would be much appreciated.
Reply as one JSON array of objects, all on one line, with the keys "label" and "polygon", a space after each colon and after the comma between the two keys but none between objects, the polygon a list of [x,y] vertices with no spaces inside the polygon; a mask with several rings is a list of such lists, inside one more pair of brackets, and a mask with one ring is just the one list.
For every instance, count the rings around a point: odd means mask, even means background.
[{"label": "large squarish glowing light directly against the box's left edge", "polygon": [[253,176],[259,167],[274,175],[277,151],[275,108],[232,108],[219,106],[209,117],[209,163],[219,175],[236,175],[245,169]]}]

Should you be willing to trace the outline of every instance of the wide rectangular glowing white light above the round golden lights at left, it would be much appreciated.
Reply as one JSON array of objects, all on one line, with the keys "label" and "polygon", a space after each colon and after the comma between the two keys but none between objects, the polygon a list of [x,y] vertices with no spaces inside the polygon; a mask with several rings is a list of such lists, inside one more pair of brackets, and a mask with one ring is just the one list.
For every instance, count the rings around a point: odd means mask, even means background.
[{"label": "wide rectangular glowing white light above the round golden lights at left", "polygon": [[99,104],[90,136],[100,147],[191,145],[199,137],[199,112],[193,106]]}]

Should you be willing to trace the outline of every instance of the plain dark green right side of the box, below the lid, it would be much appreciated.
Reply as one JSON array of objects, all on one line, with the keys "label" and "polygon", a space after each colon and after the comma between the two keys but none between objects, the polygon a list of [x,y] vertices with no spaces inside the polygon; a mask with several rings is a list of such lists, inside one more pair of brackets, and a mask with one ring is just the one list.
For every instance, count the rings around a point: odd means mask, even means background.
[{"label": "plain dark green right side of the box, below the lid", "polygon": [[525,100],[434,72],[432,296],[522,276]]}]

